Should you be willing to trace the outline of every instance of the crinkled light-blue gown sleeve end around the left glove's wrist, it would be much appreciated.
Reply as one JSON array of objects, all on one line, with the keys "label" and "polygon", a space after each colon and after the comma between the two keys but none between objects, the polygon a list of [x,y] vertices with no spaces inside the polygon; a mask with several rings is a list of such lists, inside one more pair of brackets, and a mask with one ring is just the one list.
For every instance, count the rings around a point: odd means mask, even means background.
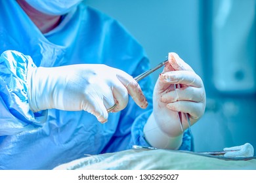
[{"label": "crinkled light-blue gown sleeve end around the left glove's wrist", "polygon": [[0,56],[0,136],[35,129],[45,122],[47,111],[33,113],[28,103],[28,75],[32,58],[7,50]]}]

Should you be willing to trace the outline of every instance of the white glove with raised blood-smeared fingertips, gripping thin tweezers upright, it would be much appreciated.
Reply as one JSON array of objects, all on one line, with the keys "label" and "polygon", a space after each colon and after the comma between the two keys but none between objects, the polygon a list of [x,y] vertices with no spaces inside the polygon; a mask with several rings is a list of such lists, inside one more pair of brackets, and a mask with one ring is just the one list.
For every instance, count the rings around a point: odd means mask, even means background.
[{"label": "white glove with raised blood-smeared fingertips, gripping thin tweezers upright", "polygon": [[[154,88],[154,110],[144,134],[154,147],[177,149],[182,142],[178,112],[182,112],[184,130],[188,128],[185,113],[189,114],[191,125],[196,123],[205,111],[205,89],[200,76],[177,54],[169,53],[168,59]],[[175,90],[174,84],[181,84],[181,88]]]}]

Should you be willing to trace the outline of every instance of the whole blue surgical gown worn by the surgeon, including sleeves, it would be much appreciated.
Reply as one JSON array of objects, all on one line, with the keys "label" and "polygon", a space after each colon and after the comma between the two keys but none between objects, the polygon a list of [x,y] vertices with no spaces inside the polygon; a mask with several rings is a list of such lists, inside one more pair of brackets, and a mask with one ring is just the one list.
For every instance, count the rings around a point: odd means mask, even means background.
[{"label": "whole blue surgical gown worn by the surgeon, including sleeves", "polygon": [[[129,99],[106,124],[85,111],[33,113],[28,105],[26,76],[32,67],[101,63],[132,76],[149,69],[140,44],[116,20],[81,3],[42,34],[16,1],[0,1],[0,53],[0,169],[53,169],[84,154],[149,146],[142,129],[152,112],[150,77],[140,81],[148,108]],[[184,133],[180,149],[190,148]]]}]

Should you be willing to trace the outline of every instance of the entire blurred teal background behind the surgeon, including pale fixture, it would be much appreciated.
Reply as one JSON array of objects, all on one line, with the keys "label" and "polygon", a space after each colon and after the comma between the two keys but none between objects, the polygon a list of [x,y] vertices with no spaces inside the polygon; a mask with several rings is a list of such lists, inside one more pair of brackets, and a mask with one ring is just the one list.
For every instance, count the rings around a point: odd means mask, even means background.
[{"label": "entire blurred teal background behind the surgeon, including pale fixture", "polygon": [[[86,0],[142,44],[151,66],[177,52],[205,84],[195,151],[256,148],[256,0]],[[158,77],[154,73],[154,82]]]}]

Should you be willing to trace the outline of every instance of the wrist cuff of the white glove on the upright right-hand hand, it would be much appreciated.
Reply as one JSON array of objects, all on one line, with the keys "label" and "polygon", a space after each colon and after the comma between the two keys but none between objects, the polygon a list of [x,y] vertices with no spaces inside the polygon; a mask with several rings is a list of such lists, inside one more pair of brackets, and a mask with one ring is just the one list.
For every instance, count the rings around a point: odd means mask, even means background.
[{"label": "wrist cuff of the white glove on the upright right-hand hand", "polygon": [[143,129],[146,141],[155,148],[177,150],[181,146],[183,134],[177,137],[170,137],[156,123],[154,114],[148,118]]}]

